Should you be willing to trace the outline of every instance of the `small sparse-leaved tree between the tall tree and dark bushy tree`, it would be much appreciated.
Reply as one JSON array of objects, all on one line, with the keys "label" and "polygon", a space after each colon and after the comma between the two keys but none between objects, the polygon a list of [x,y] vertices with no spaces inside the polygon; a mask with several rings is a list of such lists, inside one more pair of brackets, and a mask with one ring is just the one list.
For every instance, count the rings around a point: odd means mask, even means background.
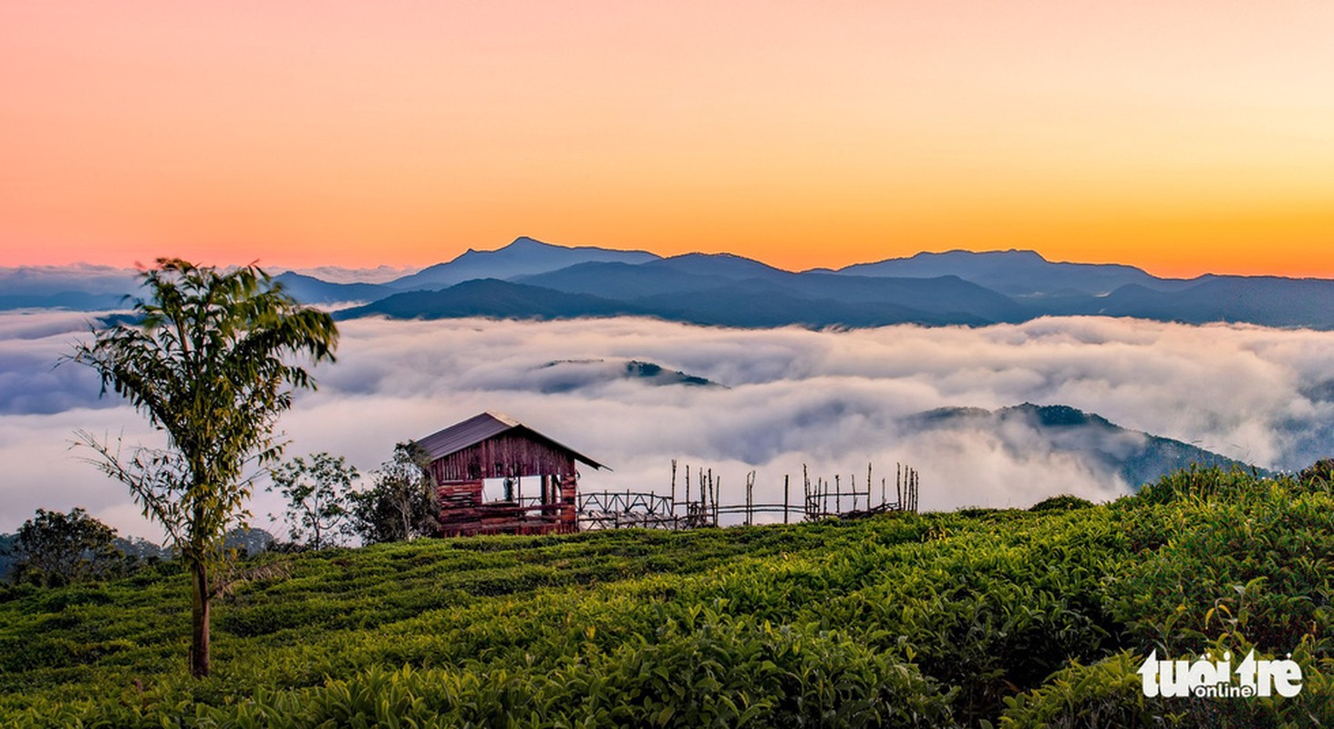
[{"label": "small sparse-leaved tree between the tall tree and dark bushy tree", "polygon": [[[312,453],[309,460],[297,456],[289,462],[273,468],[269,473],[272,485],[287,498],[288,536],[293,542],[301,542],[311,549],[324,549],[336,544],[338,536],[350,530],[348,493],[352,481],[360,478],[356,468],[347,465],[343,456]],[[269,518],[277,518],[268,514]]]}]

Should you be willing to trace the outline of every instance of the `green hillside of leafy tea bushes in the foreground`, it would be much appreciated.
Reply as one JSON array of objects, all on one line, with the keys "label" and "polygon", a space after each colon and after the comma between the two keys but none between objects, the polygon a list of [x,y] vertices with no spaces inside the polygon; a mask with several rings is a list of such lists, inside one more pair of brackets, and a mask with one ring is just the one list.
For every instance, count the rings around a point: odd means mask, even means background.
[{"label": "green hillside of leafy tea bushes in the foreground", "polygon": [[[1067,505],[1067,504],[1054,504]],[[185,676],[180,574],[0,592],[24,726],[1309,726],[1334,493],[1187,472],[1118,502],[265,556]],[[169,568],[164,568],[169,569]],[[1295,698],[1145,698],[1143,656],[1293,653]]]}]

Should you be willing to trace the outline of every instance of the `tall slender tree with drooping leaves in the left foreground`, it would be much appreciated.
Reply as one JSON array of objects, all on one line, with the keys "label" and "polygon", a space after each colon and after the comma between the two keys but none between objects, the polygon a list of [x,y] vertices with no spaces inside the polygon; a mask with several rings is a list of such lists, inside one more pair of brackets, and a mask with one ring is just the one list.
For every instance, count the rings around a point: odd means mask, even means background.
[{"label": "tall slender tree with drooping leaves in the left foreground", "polygon": [[165,528],[191,574],[189,669],[209,669],[209,568],[223,536],[244,518],[253,473],[275,461],[283,442],[277,417],[293,388],[315,382],[289,359],[334,360],[338,329],[327,313],[287,296],[253,265],[232,271],[159,259],[143,273],[147,297],[137,324],[93,331],[71,359],[97,370],[103,393],[125,397],[167,434],[167,448],[80,440],[108,476],[129,486],[144,516]]}]

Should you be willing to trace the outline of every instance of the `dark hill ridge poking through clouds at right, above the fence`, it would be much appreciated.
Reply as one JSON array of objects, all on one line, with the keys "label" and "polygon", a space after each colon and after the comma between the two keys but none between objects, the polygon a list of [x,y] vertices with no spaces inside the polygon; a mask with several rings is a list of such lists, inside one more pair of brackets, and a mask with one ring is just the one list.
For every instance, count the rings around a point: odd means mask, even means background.
[{"label": "dark hill ridge poking through clouds at right, above the fence", "polygon": [[[910,418],[908,425],[915,429],[983,432],[1014,454],[1071,454],[1098,476],[1119,476],[1133,488],[1155,482],[1191,464],[1254,468],[1189,442],[1122,428],[1099,414],[1069,405],[1025,402],[998,410],[942,408]],[[1257,472],[1267,474],[1262,469]]]}]

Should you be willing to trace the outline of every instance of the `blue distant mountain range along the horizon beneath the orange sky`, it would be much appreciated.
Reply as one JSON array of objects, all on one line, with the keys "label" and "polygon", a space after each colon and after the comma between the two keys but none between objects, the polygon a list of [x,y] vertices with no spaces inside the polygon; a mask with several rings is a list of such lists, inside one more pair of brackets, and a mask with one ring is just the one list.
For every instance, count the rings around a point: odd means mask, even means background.
[{"label": "blue distant mountain range along the horizon beneath the orange sky", "polygon": [[[984,325],[1103,315],[1334,329],[1334,281],[1271,276],[1159,279],[1129,265],[1053,263],[1033,251],[918,253],[838,271],[782,271],[732,255],[659,257],[520,237],[387,283],[276,277],[342,319],[648,316],[731,327]],[[0,269],[0,309],[113,308],[117,269]]]}]

